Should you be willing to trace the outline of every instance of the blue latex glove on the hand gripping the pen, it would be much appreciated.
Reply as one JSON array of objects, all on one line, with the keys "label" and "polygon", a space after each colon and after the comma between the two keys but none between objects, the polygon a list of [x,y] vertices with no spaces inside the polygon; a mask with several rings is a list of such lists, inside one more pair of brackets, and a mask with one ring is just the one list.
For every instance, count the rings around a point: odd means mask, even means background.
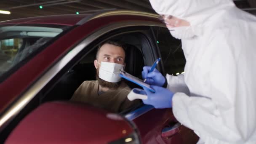
[{"label": "blue latex glove on the hand gripping the pen", "polygon": [[145,83],[149,85],[163,86],[165,84],[165,77],[157,69],[154,69],[153,72],[149,72],[150,69],[151,67],[145,66],[141,72],[142,78],[147,78]]}]

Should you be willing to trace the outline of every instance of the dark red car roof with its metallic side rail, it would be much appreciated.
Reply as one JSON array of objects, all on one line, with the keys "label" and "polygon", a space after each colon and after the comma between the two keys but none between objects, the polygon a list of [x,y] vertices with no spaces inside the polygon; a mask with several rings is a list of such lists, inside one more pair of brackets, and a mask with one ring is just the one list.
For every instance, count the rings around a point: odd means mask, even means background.
[{"label": "dark red car roof with its metallic side rail", "polygon": [[83,24],[88,20],[113,15],[133,15],[133,16],[146,16],[155,17],[156,14],[146,13],[140,11],[126,11],[126,10],[109,10],[99,11],[92,14],[67,14],[67,15],[54,15],[54,16],[37,16],[23,19],[13,19],[8,21],[2,21],[1,24],[58,24],[73,26],[75,24]]}]

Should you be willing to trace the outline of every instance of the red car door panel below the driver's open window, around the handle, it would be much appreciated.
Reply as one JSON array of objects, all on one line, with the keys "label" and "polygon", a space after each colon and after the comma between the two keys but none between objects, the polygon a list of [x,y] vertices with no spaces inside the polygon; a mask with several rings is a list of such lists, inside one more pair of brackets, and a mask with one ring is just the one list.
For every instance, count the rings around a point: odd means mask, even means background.
[{"label": "red car door panel below the driver's open window, around the handle", "polygon": [[141,141],[145,144],[196,144],[198,137],[189,128],[179,125],[178,131],[172,136],[162,137],[161,131],[179,123],[172,109],[154,109],[145,105],[125,115],[133,121],[140,132]]}]

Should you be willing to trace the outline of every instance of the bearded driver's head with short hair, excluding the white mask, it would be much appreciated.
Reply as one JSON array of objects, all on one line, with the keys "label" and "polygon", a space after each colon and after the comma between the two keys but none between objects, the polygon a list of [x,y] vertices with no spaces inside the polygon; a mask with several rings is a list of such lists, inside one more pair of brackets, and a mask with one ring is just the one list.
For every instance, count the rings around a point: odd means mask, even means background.
[{"label": "bearded driver's head with short hair, excluding the white mask", "polygon": [[112,62],[116,64],[123,64],[125,67],[125,51],[123,48],[111,44],[104,44],[101,46],[98,52],[97,60],[94,60],[94,66],[96,70],[96,79],[99,84],[107,88],[117,88],[120,83],[111,83],[99,78],[99,69],[101,67],[101,61]]}]

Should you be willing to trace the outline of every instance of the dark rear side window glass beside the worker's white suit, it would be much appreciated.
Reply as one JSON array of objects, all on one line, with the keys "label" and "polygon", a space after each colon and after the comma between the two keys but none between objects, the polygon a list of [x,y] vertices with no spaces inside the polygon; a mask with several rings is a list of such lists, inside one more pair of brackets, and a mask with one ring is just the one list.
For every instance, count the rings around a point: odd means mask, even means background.
[{"label": "dark rear side window glass beside the worker's white suit", "polygon": [[172,37],[167,28],[154,27],[153,30],[165,73],[170,75],[183,73],[186,60],[181,48],[181,40]]}]

